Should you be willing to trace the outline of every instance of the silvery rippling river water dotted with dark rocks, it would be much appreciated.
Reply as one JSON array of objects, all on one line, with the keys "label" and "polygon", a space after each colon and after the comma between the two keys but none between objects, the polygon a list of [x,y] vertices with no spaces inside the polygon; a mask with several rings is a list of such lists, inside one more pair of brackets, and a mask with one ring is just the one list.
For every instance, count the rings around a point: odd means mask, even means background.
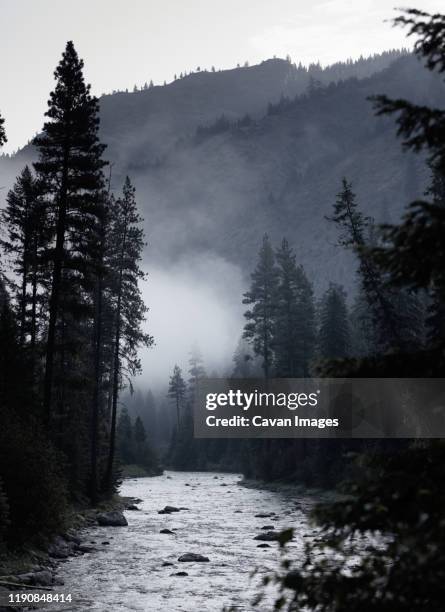
[{"label": "silvery rippling river water dotted with dark rocks", "polygon": [[[262,528],[294,527],[288,545],[292,557],[302,555],[307,538],[316,537],[308,521],[310,496],[291,490],[269,491],[239,486],[236,474],[166,472],[154,478],[124,481],[121,494],[142,500],[139,511],[127,511],[128,527],[94,527],[84,534],[97,552],[60,564],[61,588],[71,593],[76,612],[221,612],[271,610],[272,590],[259,607],[252,600],[261,578],[280,562],[277,542],[258,548]],[[158,514],[165,505],[186,507]],[[261,518],[257,514],[272,514]],[[170,529],[174,535],[161,534]],[[108,542],[109,544],[103,544]],[[178,557],[199,553],[208,563],[182,563]],[[170,562],[173,565],[165,565]],[[253,570],[258,570],[252,577]],[[187,576],[174,575],[187,572]],[[50,608],[48,608],[50,609]],[[54,608],[52,608],[54,610]]]}]

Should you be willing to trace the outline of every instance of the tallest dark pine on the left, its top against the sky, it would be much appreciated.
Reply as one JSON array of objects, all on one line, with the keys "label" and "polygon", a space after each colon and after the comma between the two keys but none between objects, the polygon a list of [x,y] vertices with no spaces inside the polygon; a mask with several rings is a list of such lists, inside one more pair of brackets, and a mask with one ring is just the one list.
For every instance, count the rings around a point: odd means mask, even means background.
[{"label": "tallest dark pine on the left, its top against the sky", "polygon": [[[96,226],[99,216],[105,165],[102,160],[105,147],[98,140],[98,101],[85,84],[83,61],[71,41],[54,76],[56,87],[48,102],[48,121],[43,133],[34,140],[39,153],[34,167],[54,219],[43,398],[48,421],[54,409],[56,358],[59,363],[67,363],[68,346],[78,339],[75,321],[85,317],[88,310],[85,291],[90,280],[89,249],[94,243],[88,230]],[[70,326],[75,337],[68,342]],[[61,385],[65,384],[66,374],[67,368],[62,364],[58,376]]]}]

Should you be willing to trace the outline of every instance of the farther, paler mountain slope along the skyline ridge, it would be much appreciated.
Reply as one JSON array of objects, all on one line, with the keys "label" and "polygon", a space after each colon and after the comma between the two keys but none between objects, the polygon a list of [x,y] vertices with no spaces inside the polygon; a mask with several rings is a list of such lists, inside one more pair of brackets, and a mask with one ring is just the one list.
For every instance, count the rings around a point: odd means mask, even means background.
[{"label": "farther, paler mountain slope along the skyline ridge", "polygon": [[[269,103],[304,92],[311,79],[329,83],[366,77],[403,53],[390,51],[324,69],[271,59],[257,66],[195,72],[142,91],[104,95],[100,99],[101,137],[108,144],[106,154],[116,168],[131,170],[133,166],[157,164],[200,124],[221,115],[229,119],[246,113],[263,116]],[[0,187],[9,188],[24,164],[33,159],[29,145],[12,157],[0,156]],[[0,192],[0,203],[2,195]]]}]

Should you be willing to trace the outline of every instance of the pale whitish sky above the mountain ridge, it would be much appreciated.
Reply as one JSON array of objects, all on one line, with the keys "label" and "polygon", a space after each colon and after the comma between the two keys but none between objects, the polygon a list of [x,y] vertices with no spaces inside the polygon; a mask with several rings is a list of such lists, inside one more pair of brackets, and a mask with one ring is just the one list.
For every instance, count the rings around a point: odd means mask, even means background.
[{"label": "pale whitish sky above the mountain ridge", "polygon": [[444,0],[0,0],[0,111],[16,150],[42,126],[52,73],[72,39],[96,95],[171,81],[197,66],[290,55],[330,64],[408,46],[394,5]]}]

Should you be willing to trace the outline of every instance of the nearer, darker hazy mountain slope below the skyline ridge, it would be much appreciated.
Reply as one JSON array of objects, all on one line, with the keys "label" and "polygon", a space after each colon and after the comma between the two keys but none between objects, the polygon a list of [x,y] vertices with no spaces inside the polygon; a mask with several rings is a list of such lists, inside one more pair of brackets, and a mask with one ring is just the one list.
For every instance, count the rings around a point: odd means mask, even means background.
[{"label": "nearer, darker hazy mountain slope below the skyline ridge", "polygon": [[426,181],[421,159],[402,151],[392,120],[367,99],[388,93],[445,104],[444,89],[412,57],[368,79],[312,88],[247,127],[190,139],[158,167],[133,168],[146,194],[152,252],[170,259],[208,251],[253,264],[264,232],[286,236],[318,285],[351,285],[351,259],[326,221],[343,176],[364,211],[397,219]]}]

